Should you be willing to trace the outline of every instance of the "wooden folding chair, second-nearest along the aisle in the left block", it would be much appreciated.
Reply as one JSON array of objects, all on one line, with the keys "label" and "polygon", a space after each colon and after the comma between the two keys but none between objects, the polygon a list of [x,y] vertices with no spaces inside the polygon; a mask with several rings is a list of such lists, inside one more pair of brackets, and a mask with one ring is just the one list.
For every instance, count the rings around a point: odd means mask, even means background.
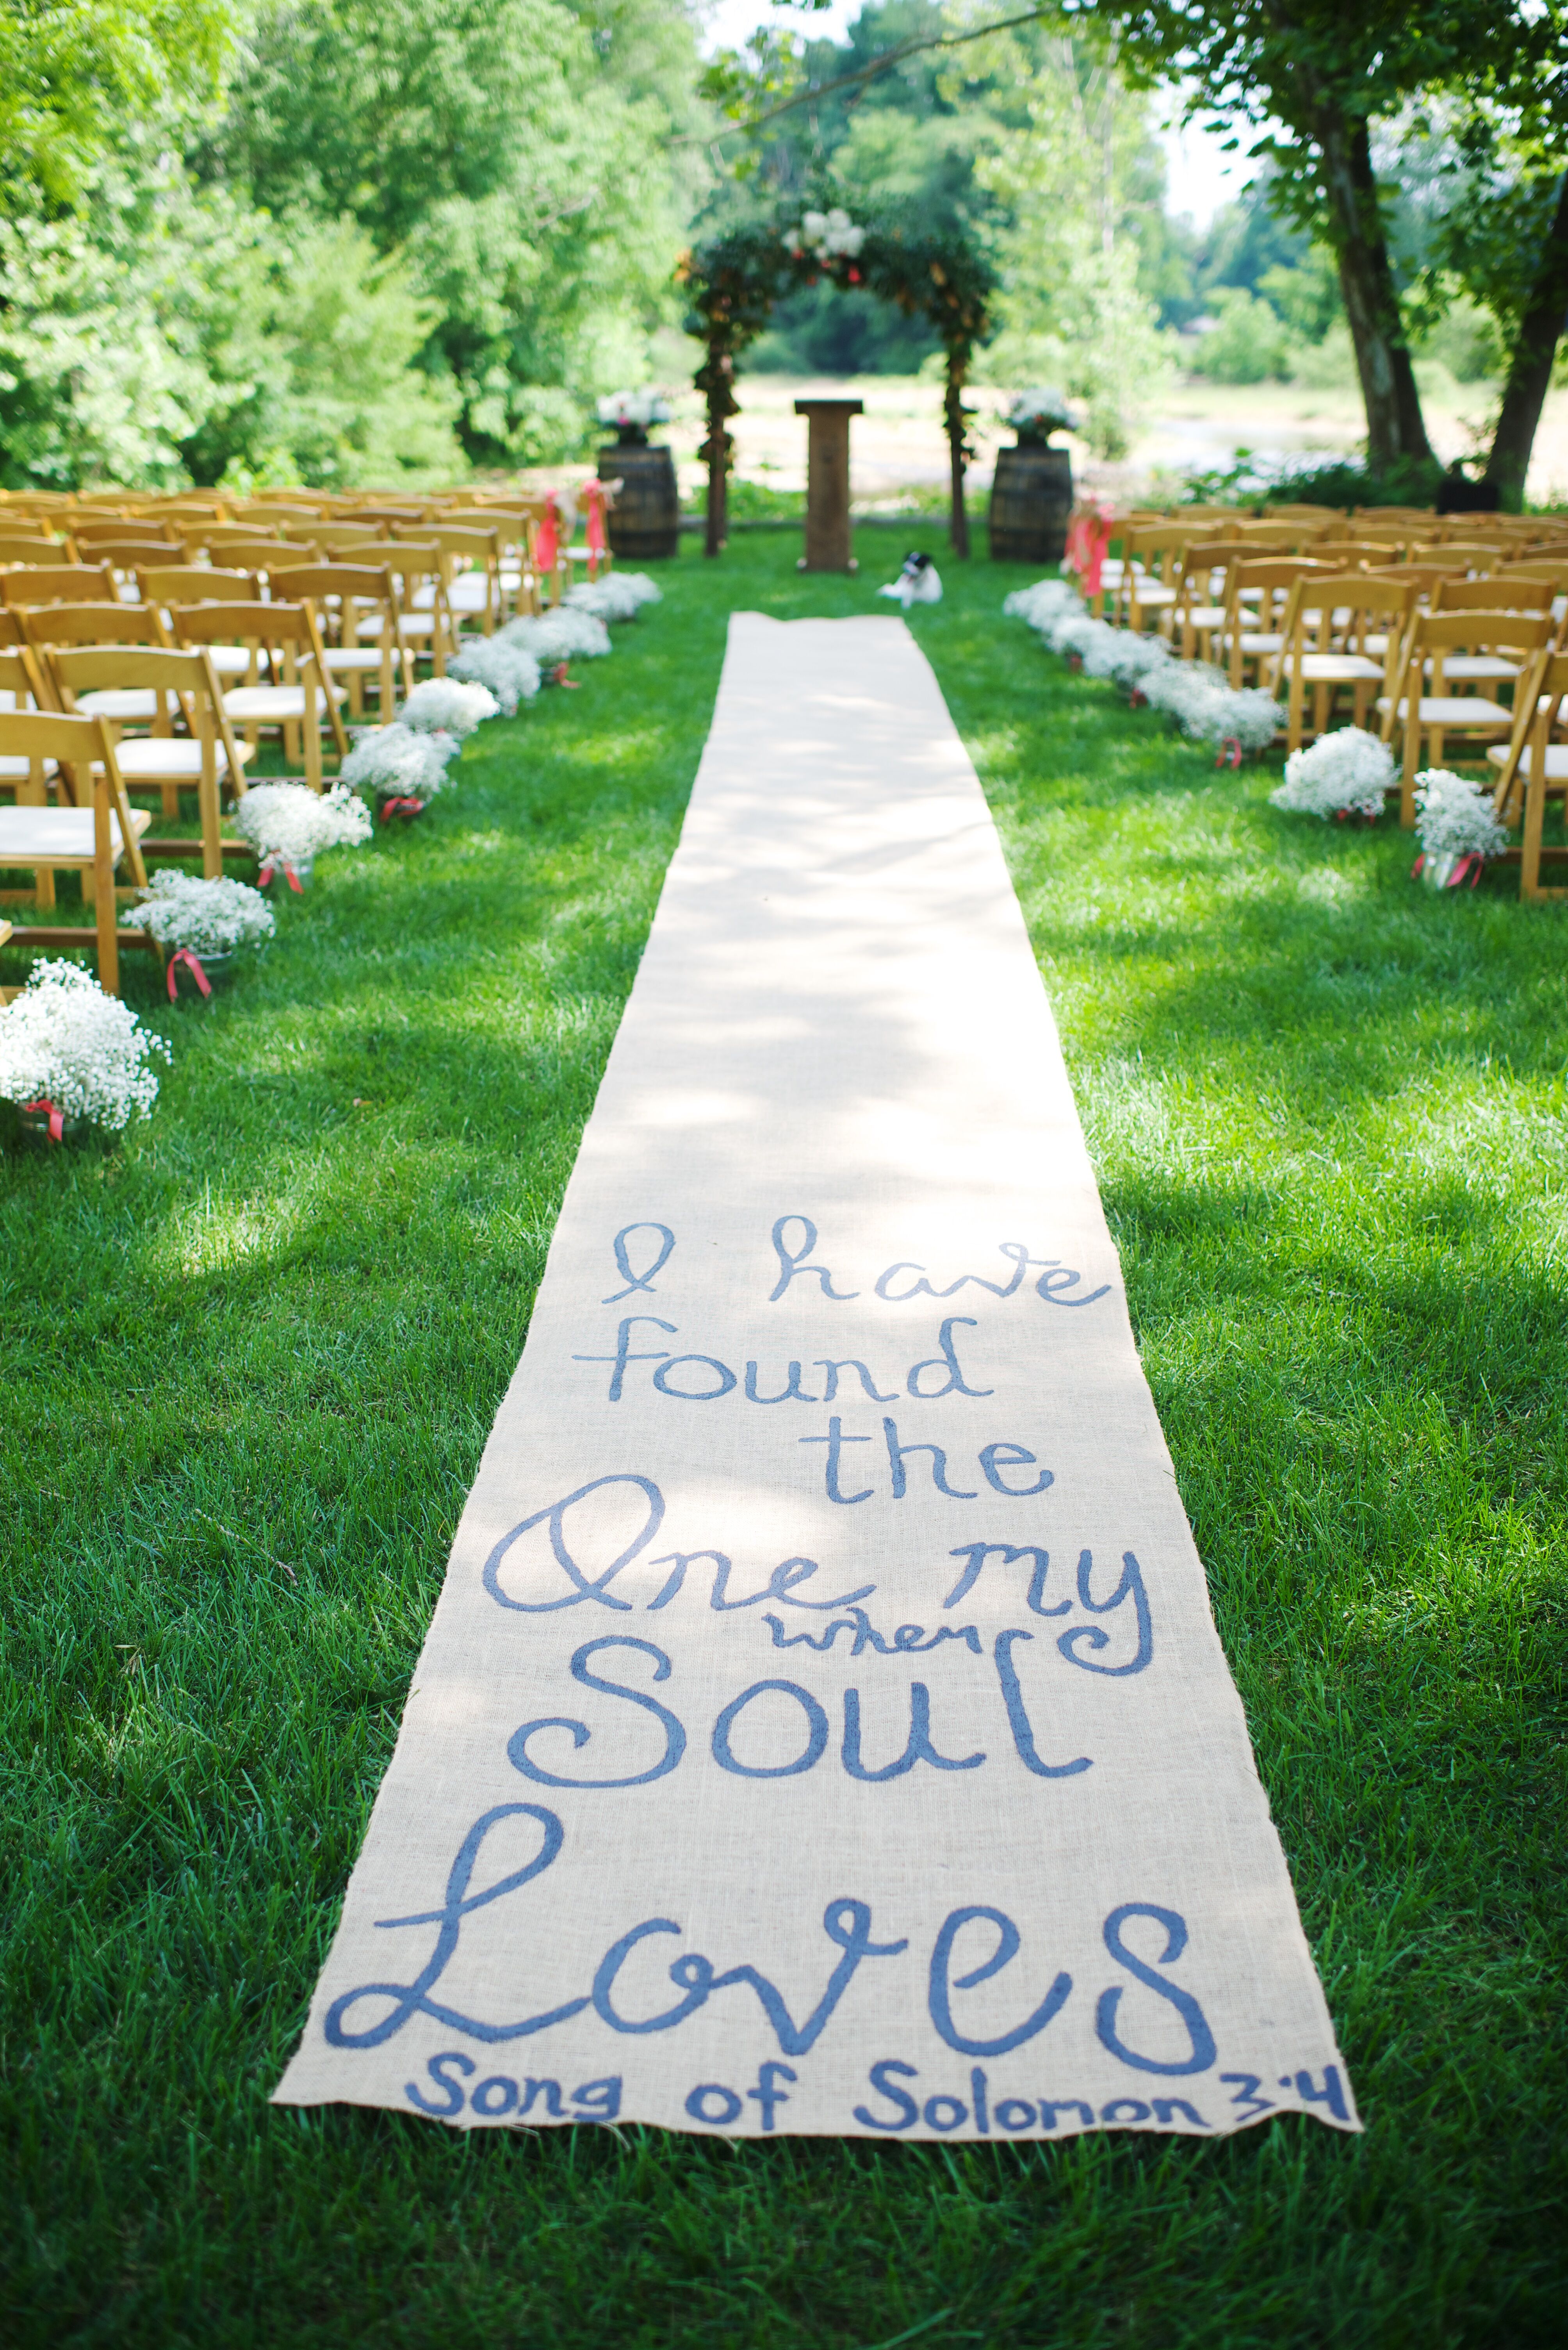
[{"label": "wooden folding chair, second-nearest along the aisle in the left block", "polygon": [[[223,872],[221,792],[228,785],[244,794],[244,759],[249,743],[235,740],[223,684],[207,646],[190,653],[148,651],[143,646],[77,646],[49,653],[49,667],[68,710],[113,700],[124,691],[150,691],[169,710],[169,724],[157,733],[115,743],[120,778],[127,792],[157,792],[162,813],[178,820],[181,792],[197,794],[202,815],[202,874],[216,881]],[[174,717],[185,733],[174,733]],[[113,721],[110,721],[113,724]],[[190,855],[183,841],[148,841],[150,851]],[[239,848],[249,855],[249,848]]]}]

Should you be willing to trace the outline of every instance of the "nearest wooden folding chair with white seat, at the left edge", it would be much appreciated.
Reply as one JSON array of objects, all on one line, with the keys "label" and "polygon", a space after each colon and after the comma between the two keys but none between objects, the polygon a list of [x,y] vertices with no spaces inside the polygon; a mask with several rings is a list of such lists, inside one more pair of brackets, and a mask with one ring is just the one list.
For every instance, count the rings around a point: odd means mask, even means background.
[{"label": "nearest wooden folding chair with white seat, at the left edge", "polygon": [[[0,710],[0,759],[26,759],[28,776],[14,808],[0,808],[0,870],[33,874],[31,891],[0,891],[7,905],[54,907],[54,874],[77,872],[82,898],[92,902],[92,928],[56,928],[54,924],[19,924],[14,947],[94,947],[99,987],[120,994],[120,949],[150,947],[162,952],[146,931],[122,931],[115,867],[127,860],[131,881],[148,886],[141,860],[141,834],[153,822],[143,808],[131,808],[115,761],[115,745],[103,719],[61,717],[45,710]],[[61,806],[47,806],[49,780],[61,785]]]}]

